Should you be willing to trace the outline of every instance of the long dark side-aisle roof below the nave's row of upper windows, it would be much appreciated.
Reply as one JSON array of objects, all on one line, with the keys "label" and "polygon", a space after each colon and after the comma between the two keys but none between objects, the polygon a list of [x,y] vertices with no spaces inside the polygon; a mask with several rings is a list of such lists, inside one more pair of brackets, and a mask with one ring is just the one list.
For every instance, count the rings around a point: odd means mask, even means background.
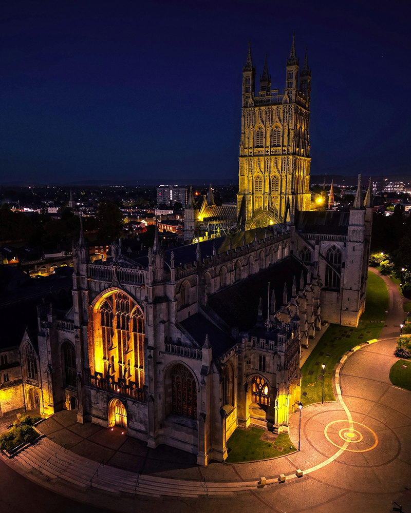
[{"label": "long dark side-aisle roof below the nave's row of upper windows", "polygon": [[260,298],[263,317],[267,318],[268,284],[270,283],[270,290],[274,290],[277,304],[281,305],[284,283],[287,284],[290,297],[294,278],[296,277],[299,283],[302,271],[306,278],[306,267],[296,258],[287,257],[246,280],[241,280],[210,295],[208,305],[228,326],[236,326],[240,331],[248,331],[257,322]]}]

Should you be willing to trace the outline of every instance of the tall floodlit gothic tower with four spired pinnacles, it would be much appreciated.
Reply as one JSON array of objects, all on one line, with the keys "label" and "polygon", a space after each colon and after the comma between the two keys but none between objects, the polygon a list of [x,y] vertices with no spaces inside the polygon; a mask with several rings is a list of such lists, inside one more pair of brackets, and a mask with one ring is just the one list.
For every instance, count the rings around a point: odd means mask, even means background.
[{"label": "tall floodlit gothic tower with four spired pinnacles", "polygon": [[310,209],[311,70],[307,52],[300,76],[299,71],[293,37],[286,65],[286,87],[282,92],[271,88],[266,57],[256,91],[249,47],[242,70],[237,196],[238,213],[241,205],[246,211],[246,229],[285,222],[292,218],[294,208]]}]

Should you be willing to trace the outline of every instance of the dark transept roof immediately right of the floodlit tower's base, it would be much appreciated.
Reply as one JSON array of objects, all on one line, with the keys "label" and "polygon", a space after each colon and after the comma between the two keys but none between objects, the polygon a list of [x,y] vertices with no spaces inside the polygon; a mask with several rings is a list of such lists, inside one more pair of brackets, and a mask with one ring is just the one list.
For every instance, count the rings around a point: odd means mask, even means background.
[{"label": "dark transept roof immediately right of the floodlit tower's base", "polygon": [[295,211],[295,224],[300,233],[346,235],[349,218],[348,210]]}]

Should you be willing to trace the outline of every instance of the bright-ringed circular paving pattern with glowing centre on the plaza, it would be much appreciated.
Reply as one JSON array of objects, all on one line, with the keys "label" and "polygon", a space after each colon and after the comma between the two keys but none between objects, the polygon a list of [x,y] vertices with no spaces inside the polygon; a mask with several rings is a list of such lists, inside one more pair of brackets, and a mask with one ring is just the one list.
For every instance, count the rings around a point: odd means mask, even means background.
[{"label": "bright-ringed circular paving pattern with glowing centre on the plaza", "polygon": [[352,427],[350,427],[348,420],[329,422],[324,428],[324,435],[335,447],[350,452],[368,452],[375,449],[378,444],[375,431],[359,422],[352,422]]}]

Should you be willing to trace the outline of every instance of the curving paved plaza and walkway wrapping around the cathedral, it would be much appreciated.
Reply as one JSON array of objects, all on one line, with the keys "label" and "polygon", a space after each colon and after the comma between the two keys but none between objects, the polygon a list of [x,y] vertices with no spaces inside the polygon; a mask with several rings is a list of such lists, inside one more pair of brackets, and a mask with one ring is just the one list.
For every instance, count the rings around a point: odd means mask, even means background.
[{"label": "curving paved plaza and walkway wrapping around the cathedral", "polygon": [[[72,425],[68,412],[62,412],[66,417],[55,417],[54,426],[47,421],[50,426],[48,437],[54,437],[54,441],[69,433],[69,438],[64,439],[71,445],[71,450],[61,453],[62,461],[67,460],[66,463],[50,465],[54,466],[54,471],[58,469],[60,477],[53,477],[50,468],[50,475],[43,473],[41,476],[38,470],[23,466],[29,463],[27,455],[30,454],[32,458],[44,460],[43,449],[48,446],[52,451],[50,444],[54,443],[47,439],[41,442],[42,449],[37,455],[35,451],[38,449],[34,447],[24,451],[21,458],[17,457],[22,465],[19,470],[63,495],[69,494],[81,501],[121,511],[135,509],[137,500],[138,507],[147,511],[157,510],[166,503],[171,511],[191,511],[193,508],[210,511],[222,507],[227,511],[249,511],[252,505],[258,511],[287,513],[321,513],[331,508],[335,513],[351,510],[379,513],[390,511],[391,501],[395,500],[403,505],[405,513],[411,512],[411,396],[410,392],[389,382],[389,369],[397,360],[393,351],[404,313],[397,287],[389,279],[385,278],[385,281],[390,307],[381,339],[354,352],[344,363],[339,373],[341,402],[314,404],[303,409],[300,452],[276,460],[235,465],[216,463],[200,468],[190,459],[179,460],[178,453],[172,450],[161,458],[156,458],[155,451],[150,452],[143,446],[145,452],[139,453],[135,441],[130,442],[132,439],[122,437],[119,432],[113,433],[110,440],[107,439],[109,431],[98,426],[84,425],[89,432],[82,432],[79,425]],[[291,419],[290,435],[294,443],[297,442],[297,413]],[[129,493],[119,499],[102,496],[94,488],[90,490],[85,485],[87,472],[95,472],[98,463],[87,460],[88,463],[79,464],[79,459],[83,458],[81,453],[84,452],[91,459],[90,450],[93,448],[97,448],[94,459],[104,452],[110,460],[104,470],[106,474],[102,473],[102,479],[96,480],[99,487],[110,489],[108,484],[114,480],[113,489],[120,491],[118,483],[125,475],[122,472],[133,475],[133,470],[137,470],[130,468],[127,471],[124,467],[140,465],[142,482],[156,483],[154,488],[157,487],[157,490],[152,487],[141,491],[153,495],[156,491],[158,494],[164,492],[169,497],[139,496],[136,499]],[[34,460],[32,463],[35,465]],[[74,482],[67,483],[70,466],[74,473],[76,466],[78,472],[83,469],[83,483],[76,482],[73,475]],[[84,470],[86,467],[87,471]],[[309,472],[298,479],[294,477],[298,468]],[[66,481],[62,481],[62,473],[65,473]],[[279,473],[288,475],[283,484],[277,482]],[[257,480],[262,475],[268,478],[269,485],[257,488]],[[203,486],[204,477],[208,489]],[[174,481],[170,482],[170,479]],[[126,481],[122,482],[126,486]],[[170,489],[185,498],[170,497]]]}]

